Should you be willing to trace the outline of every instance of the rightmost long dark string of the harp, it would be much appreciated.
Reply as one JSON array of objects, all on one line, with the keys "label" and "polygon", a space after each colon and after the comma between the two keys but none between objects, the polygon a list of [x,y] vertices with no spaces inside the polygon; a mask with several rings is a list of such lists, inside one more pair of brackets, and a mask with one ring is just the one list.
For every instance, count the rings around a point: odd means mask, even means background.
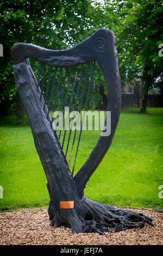
[{"label": "rightmost long dark string of the harp", "polygon": [[73,173],[74,173],[74,167],[76,165],[76,159],[77,159],[77,154],[78,154],[78,149],[79,149],[79,143],[80,143],[80,138],[81,138],[81,135],[82,135],[82,129],[83,129],[83,122],[84,122],[84,118],[85,118],[85,111],[86,111],[86,107],[87,107],[87,101],[89,99],[89,95],[90,95],[90,90],[91,90],[91,85],[92,85],[92,79],[93,79],[93,73],[94,73],[94,70],[95,70],[95,63],[93,64],[93,69],[92,69],[92,74],[91,74],[91,80],[90,80],[90,84],[89,84],[89,89],[88,89],[88,92],[87,92],[87,97],[86,97],[86,102],[85,102],[85,108],[84,108],[84,115],[83,115],[83,120],[82,120],[82,125],[80,127],[80,134],[79,134],[79,139],[78,139],[78,145],[77,145],[77,150],[76,150],[76,156],[74,158],[74,163],[73,163],[73,168],[72,168],[72,176],[73,176]]}]

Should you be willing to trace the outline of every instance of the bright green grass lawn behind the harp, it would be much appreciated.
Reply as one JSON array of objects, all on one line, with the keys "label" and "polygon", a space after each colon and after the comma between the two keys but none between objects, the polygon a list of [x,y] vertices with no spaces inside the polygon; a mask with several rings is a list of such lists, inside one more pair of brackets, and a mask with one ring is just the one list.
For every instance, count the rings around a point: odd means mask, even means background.
[{"label": "bright green grass lawn behind the harp", "polygon": [[[46,206],[46,176],[37,155],[29,125],[16,126],[15,117],[0,120],[0,209]],[[85,196],[117,206],[162,208],[163,109],[122,109],[108,153],[85,188]],[[87,160],[99,131],[83,131],[76,171]]]}]

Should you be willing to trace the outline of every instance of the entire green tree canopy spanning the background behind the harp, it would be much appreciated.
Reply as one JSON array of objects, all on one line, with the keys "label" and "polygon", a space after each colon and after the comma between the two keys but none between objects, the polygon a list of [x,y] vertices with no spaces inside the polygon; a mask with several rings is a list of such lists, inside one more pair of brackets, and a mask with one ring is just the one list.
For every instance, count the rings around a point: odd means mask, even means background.
[{"label": "entire green tree canopy spanning the background behind the harp", "polygon": [[[162,57],[158,55],[163,43],[162,13],[163,3],[156,0],[1,1],[1,114],[15,111],[20,103],[12,70],[12,45],[27,42],[59,50],[78,44],[102,27],[116,36],[121,79],[134,81],[145,92],[153,84],[162,87]],[[98,72],[96,83],[103,84]],[[93,99],[91,107],[95,108],[97,96]]]}]

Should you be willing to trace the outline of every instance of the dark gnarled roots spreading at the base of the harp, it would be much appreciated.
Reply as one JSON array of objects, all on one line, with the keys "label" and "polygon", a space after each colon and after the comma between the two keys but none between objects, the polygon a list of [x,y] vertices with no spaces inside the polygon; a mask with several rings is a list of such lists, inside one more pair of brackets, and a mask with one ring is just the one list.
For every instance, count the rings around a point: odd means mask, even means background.
[{"label": "dark gnarled roots spreading at the base of the harp", "polygon": [[[111,230],[122,231],[131,228],[143,228],[145,222],[153,226],[151,218],[143,214],[137,214],[137,212],[116,209],[113,206],[97,203],[86,197],[82,198],[81,203],[84,216],[79,217],[78,221],[72,220],[72,222],[78,223],[80,226],[77,227],[76,224],[73,225],[73,227],[71,226],[72,230],[76,233],[85,232],[104,235],[105,232]],[[59,225],[55,223],[54,219],[56,220],[56,216],[54,218],[54,215],[52,215],[52,209],[52,206],[51,208],[49,206],[48,212],[50,220],[52,221],[51,225],[59,227],[61,223],[59,223]],[[64,225],[64,222],[62,222],[62,226],[67,227],[67,223]]]}]

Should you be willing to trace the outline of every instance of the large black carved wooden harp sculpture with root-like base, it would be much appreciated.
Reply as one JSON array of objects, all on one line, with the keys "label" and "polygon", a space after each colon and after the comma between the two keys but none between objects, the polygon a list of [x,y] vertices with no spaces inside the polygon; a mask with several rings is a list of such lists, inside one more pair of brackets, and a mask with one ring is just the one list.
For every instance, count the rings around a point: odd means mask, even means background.
[{"label": "large black carved wooden harp sculpture with root-like base", "polygon": [[[27,60],[28,57],[40,62],[37,80]],[[48,214],[51,225],[70,227],[76,233],[97,232],[99,234],[104,234],[109,230],[120,231],[143,227],[145,222],[153,225],[152,220],[147,216],[129,210],[116,209],[84,197],[86,183],[108,151],[120,117],[120,75],[112,31],[98,29],[80,44],[60,51],[18,43],[12,47],[12,60],[17,89],[24,103],[35,147],[48,182],[47,188],[51,199]],[[57,134],[51,111],[54,112],[56,108],[60,111],[63,106],[72,107],[72,99],[75,100],[74,111],[80,112],[83,109],[81,105],[83,100],[85,100],[84,109],[86,109],[95,63],[103,72],[108,90],[106,111],[111,112],[111,133],[109,136],[98,138],[90,156],[73,176],[82,129],[78,132],[77,149],[71,172],[70,161],[67,161],[71,129],[70,131],[60,130]],[[49,75],[45,79],[47,68]],[[59,89],[60,86],[61,89]],[[77,100],[79,90],[81,90],[80,100]],[[84,90],[87,91],[85,98]],[[57,99],[59,99],[58,106]],[[69,136],[65,147],[66,131],[69,132]],[[73,143],[76,134],[75,130],[72,134]],[[70,160],[74,148],[73,143]]]}]

